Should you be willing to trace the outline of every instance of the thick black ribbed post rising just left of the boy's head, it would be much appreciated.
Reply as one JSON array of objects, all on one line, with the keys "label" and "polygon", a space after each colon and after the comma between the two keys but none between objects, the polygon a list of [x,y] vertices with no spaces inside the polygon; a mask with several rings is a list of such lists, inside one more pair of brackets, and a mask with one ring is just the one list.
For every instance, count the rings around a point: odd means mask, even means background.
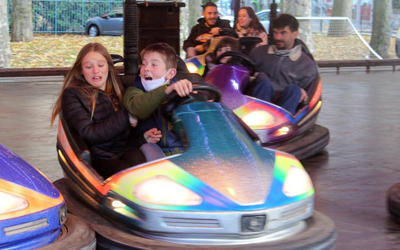
[{"label": "thick black ribbed post rising just left of the boy's head", "polygon": [[125,76],[138,74],[138,5],[136,0],[125,0],[123,11],[123,65]]}]

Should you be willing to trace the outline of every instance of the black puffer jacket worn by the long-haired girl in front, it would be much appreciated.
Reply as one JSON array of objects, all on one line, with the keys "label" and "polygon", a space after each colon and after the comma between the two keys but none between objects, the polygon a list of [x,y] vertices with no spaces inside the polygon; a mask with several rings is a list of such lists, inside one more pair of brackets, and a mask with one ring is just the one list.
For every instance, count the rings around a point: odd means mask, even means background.
[{"label": "black puffer jacket worn by the long-haired girl in front", "polygon": [[[110,98],[103,91],[99,91],[92,118],[91,100],[78,87],[65,89],[61,103],[68,126],[83,138],[93,159],[117,159],[128,147],[128,130],[131,129],[128,113],[122,109],[114,111]],[[136,146],[143,143],[144,137],[139,140]]]}]

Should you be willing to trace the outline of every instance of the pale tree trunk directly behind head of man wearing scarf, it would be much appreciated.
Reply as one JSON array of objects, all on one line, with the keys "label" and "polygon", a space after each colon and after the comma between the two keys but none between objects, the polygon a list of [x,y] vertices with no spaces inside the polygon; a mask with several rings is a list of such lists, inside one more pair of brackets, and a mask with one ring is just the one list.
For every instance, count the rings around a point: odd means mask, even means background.
[{"label": "pale tree trunk directly behind head of man wearing scarf", "polygon": [[[311,17],[311,0],[281,0],[280,13],[295,17]],[[299,36],[311,53],[314,52],[313,32],[310,20],[299,20]]]}]

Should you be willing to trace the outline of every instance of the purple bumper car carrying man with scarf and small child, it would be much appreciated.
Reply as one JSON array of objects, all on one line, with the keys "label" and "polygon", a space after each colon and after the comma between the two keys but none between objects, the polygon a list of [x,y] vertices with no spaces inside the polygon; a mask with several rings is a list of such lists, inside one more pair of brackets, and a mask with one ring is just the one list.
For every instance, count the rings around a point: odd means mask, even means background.
[{"label": "purple bumper car carrying man with scarf and small child", "polygon": [[318,78],[307,90],[308,102],[302,103],[295,115],[263,100],[246,96],[251,84],[254,63],[239,52],[225,52],[235,63],[219,64],[204,77],[222,93],[222,102],[238,115],[260,138],[262,146],[294,154],[305,159],[322,150],[329,142],[328,129],[317,125],[322,106],[322,82]]}]

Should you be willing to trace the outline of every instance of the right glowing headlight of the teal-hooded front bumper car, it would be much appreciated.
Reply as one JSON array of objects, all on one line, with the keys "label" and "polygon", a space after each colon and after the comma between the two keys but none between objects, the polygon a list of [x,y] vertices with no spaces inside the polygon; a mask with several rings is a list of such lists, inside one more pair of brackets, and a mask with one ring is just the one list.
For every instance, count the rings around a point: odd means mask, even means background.
[{"label": "right glowing headlight of the teal-hooded front bumper car", "polygon": [[310,176],[305,170],[296,165],[291,165],[283,184],[283,193],[293,197],[308,192],[313,188]]}]

